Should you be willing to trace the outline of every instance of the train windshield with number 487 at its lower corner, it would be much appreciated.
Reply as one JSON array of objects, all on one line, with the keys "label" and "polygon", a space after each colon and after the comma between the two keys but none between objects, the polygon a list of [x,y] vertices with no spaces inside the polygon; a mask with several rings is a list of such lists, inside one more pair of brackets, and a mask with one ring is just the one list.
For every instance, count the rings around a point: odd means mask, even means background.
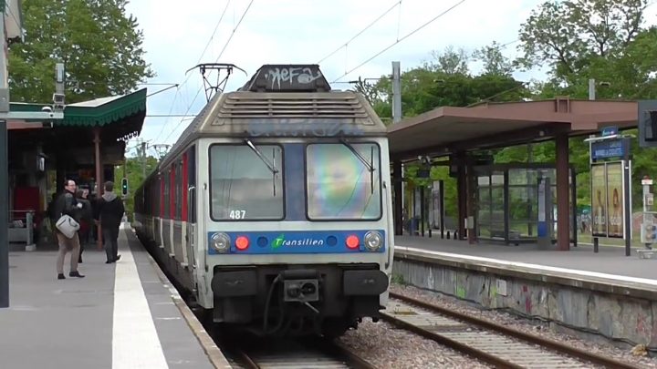
[{"label": "train windshield with number 487 at its lower corner", "polygon": [[210,148],[213,220],[284,218],[283,150],[276,145],[251,146]]}]

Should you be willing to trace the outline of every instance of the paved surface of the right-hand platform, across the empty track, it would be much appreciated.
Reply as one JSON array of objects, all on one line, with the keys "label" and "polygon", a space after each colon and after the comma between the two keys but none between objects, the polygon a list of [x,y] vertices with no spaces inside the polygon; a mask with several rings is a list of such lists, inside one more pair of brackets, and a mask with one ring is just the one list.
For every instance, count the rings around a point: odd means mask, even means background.
[{"label": "paved surface of the right-hand platform, across the empty track", "polygon": [[395,236],[395,246],[657,280],[657,259],[639,259],[635,247],[632,247],[630,256],[625,256],[624,247],[600,246],[598,253],[593,252],[590,245],[571,246],[570,251],[540,250],[535,244],[469,244],[467,241],[442,240],[440,235],[437,238]]}]

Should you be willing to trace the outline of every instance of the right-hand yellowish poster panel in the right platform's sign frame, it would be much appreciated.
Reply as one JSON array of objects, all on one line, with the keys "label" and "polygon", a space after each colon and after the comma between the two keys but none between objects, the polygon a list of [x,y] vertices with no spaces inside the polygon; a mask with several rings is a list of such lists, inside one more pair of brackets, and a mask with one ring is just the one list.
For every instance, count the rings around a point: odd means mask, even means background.
[{"label": "right-hand yellowish poster panel in the right platform's sign frame", "polygon": [[607,163],[607,224],[608,236],[622,238],[623,230],[623,170],[621,162]]}]

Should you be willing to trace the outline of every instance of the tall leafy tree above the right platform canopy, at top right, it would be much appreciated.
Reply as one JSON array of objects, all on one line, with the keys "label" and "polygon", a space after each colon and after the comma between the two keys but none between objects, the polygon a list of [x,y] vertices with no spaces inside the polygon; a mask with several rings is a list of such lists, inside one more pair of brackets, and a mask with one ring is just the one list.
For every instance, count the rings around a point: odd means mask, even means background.
[{"label": "tall leafy tree above the right platform canopy, at top right", "polygon": [[609,97],[632,97],[657,71],[657,32],[643,27],[647,0],[546,2],[519,32],[523,67],[551,67],[562,92],[587,92],[588,79],[606,80]]}]

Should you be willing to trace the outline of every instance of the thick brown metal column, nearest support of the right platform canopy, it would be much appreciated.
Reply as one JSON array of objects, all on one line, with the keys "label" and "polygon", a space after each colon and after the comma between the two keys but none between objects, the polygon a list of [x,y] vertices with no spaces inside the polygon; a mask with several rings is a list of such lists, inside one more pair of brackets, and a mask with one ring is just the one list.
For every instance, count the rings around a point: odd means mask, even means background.
[{"label": "thick brown metal column, nearest support of the right platform canopy", "polygon": [[568,135],[557,140],[557,244],[559,251],[570,250],[570,191],[568,189]]}]

